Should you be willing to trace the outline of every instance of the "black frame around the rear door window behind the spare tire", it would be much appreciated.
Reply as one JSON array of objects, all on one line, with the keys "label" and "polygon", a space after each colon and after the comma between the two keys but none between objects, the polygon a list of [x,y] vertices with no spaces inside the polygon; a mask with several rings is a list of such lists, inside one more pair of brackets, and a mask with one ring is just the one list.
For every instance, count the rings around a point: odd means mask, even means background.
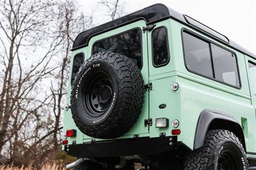
[{"label": "black frame around the rear door window behind the spare tire", "polygon": [[[141,45],[140,45],[140,48],[141,48],[141,67],[139,67],[139,69],[141,70],[141,69],[143,68],[143,38],[142,38],[143,32],[142,32],[142,29],[141,29],[140,27],[134,27],[134,28],[132,28],[132,29],[128,29],[128,30],[126,30],[126,31],[122,31],[122,32],[119,32],[119,33],[117,33],[117,34],[113,34],[113,35],[111,35],[111,36],[108,36],[108,37],[105,37],[105,38],[102,38],[102,39],[97,39],[97,40],[94,41],[93,44],[92,44],[91,55],[93,55],[93,46],[95,45],[95,43],[98,43],[99,41],[103,41],[103,40],[105,40],[105,39],[113,38],[113,37],[115,37],[115,36],[119,36],[119,35],[121,35],[121,34],[125,34],[126,32],[133,31],[133,30],[135,30],[135,29],[138,29],[138,30],[140,30],[140,32],[141,32],[141,36],[140,36],[140,41],[141,41]],[[126,57],[128,57],[128,56],[126,56]],[[136,66],[137,66],[137,64],[136,64]]]}]

